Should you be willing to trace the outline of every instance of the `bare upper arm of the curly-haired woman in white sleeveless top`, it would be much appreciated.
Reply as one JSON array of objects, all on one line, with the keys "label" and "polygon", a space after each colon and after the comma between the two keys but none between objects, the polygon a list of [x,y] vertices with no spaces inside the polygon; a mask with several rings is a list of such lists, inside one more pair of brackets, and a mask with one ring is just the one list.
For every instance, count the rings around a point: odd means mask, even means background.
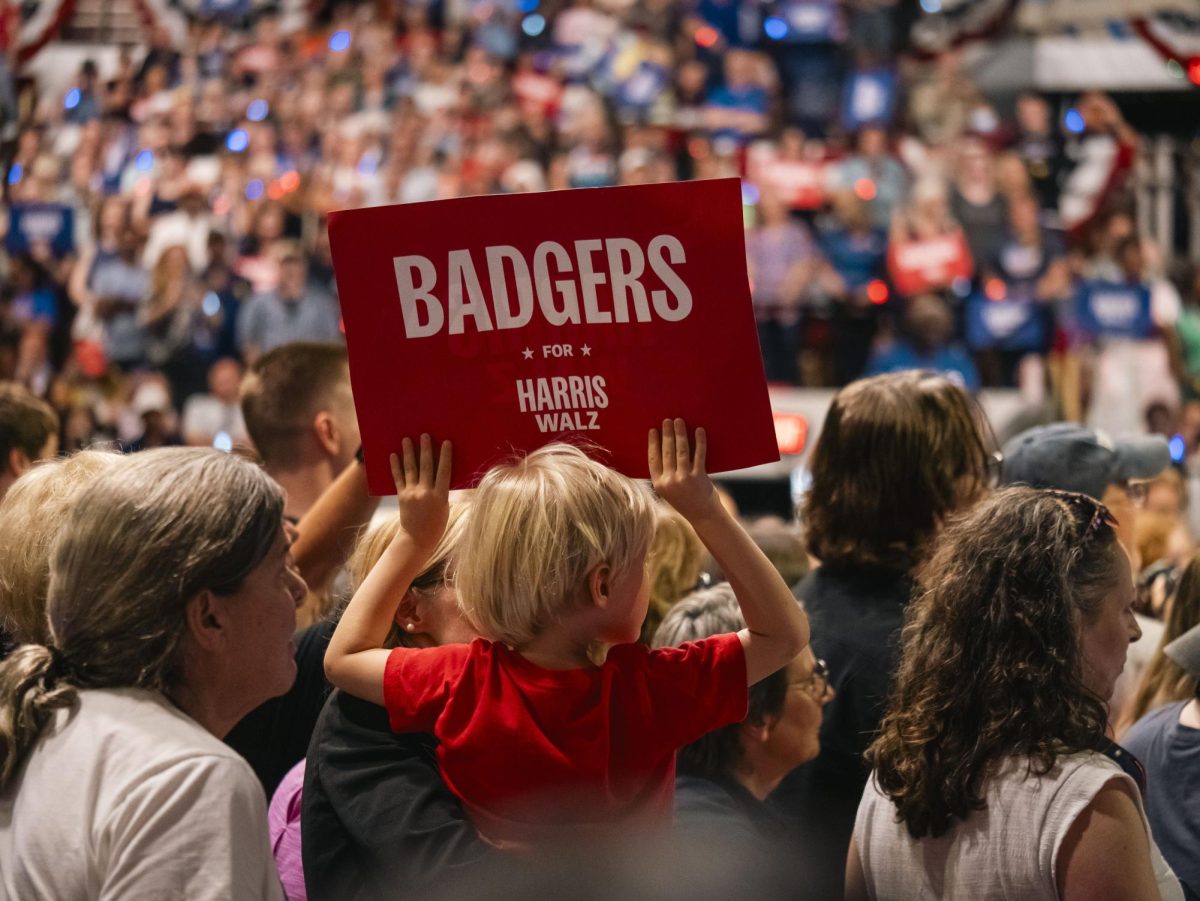
[{"label": "bare upper arm of the curly-haired woman in white sleeveless top", "polygon": [[1110,780],[1058,848],[1062,901],[1158,901],[1150,841],[1124,780]]}]

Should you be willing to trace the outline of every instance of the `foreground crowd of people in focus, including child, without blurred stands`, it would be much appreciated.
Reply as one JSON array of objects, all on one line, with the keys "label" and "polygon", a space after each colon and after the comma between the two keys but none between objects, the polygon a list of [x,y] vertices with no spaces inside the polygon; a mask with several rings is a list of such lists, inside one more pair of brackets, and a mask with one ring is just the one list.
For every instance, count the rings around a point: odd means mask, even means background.
[{"label": "foreground crowd of people in focus, including child, without blurred stands", "polygon": [[551,444],[451,494],[406,439],[391,513],[348,382],[265,353],[262,463],[53,456],[2,388],[0,895],[1196,896],[1162,437],[997,448],[911,371],[838,392],[798,522],[740,521],[682,420],[653,492]]}]

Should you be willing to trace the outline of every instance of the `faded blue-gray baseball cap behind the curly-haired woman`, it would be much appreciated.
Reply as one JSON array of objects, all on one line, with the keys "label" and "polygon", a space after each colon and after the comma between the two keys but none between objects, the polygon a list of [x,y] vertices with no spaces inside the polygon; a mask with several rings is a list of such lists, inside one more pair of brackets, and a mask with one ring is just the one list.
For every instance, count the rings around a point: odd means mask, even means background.
[{"label": "faded blue-gray baseball cap behind the curly-haired woman", "polygon": [[1000,481],[1078,491],[1099,499],[1110,485],[1152,479],[1170,464],[1162,436],[1114,442],[1074,422],[1055,422],[1021,432],[1004,445]]}]

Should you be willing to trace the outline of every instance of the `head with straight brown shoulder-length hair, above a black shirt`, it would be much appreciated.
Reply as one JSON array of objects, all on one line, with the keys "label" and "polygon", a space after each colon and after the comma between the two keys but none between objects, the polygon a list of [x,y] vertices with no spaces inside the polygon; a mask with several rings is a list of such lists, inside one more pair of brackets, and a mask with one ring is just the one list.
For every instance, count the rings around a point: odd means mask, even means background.
[{"label": "head with straight brown shoulder-length hair, above a black shirt", "polygon": [[823,563],[910,570],[946,517],[986,488],[978,406],[943,376],[900,372],[836,394],[812,451],[800,519]]}]

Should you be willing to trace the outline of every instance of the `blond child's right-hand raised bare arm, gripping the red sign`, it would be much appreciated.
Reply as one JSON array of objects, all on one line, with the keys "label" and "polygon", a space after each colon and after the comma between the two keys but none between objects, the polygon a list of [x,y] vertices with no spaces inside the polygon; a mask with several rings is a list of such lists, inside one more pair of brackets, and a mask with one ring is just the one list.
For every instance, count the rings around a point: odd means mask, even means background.
[{"label": "blond child's right-hand raised bare arm, gripping the red sign", "polygon": [[704,430],[696,430],[695,457],[682,419],[664,420],[661,437],[659,430],[652,428],[649,444],[654,489],[691,523],[737,595],[746,620],[740,632],[746,681],[754,685],[804,650],[809,643],[808,617],[770,560],[716,498],[704,471]]}]

